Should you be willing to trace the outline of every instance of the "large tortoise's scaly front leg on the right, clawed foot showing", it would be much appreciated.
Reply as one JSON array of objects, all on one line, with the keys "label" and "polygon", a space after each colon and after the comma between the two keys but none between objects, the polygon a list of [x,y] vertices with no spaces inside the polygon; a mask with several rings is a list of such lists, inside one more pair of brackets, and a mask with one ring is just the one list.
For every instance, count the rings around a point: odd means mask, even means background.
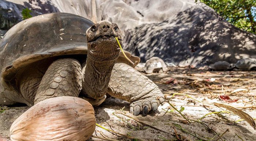
[{"label": "large tortoise's scaly front leg on the right, clawed foot showing", "polygon": [[164,101],[161,90],[146,76],[124,63],[117,63],[111,73],[108,94],[131,102],[130,113],[146,115]]}]

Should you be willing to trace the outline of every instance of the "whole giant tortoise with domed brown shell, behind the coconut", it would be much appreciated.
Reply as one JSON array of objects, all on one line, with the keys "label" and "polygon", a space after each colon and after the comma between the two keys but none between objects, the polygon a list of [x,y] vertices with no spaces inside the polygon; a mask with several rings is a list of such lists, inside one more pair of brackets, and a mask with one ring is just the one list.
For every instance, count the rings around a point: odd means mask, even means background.
[{"label": "whole giant tortoise with domed brown shell, behind the coconut", "polygon": [[[120,54],[115,37],[121,43],[116,24],[94,24],[70,13],[21,21],[0,41],[0,105],[33,106],[62,96],[99,105],[109,94],[131,102],[134,115],[156,111],[162,92]],[[139,57],[125,54],[139,63]]]}]

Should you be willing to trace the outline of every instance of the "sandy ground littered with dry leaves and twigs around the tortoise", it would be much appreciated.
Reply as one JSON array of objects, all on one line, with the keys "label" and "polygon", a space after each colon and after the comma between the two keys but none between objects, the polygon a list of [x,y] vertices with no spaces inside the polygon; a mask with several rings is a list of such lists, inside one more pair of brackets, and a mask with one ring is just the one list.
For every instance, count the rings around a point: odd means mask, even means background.
[{"label": "sandy ground littered with dry leaves and twigs around the tortoise", "polygon": [[[256,131],[247,122],[238,121],[241,120],[239,116],[232,113],[223,113],[221,112],[223,111],[222,109],[210,105],[213,102],[229,104],[256,118],[255,71],[210,72],[192,68],[170,68],[170,71],[167,73],[145,75],[159,86],[167,99],[171,98],[173,93],[186,93],[193,98],[176,95],[169,100],[178,110],[181,109],[181,106],[184,107],[181,113],[189,120],[199,120],[204,115],[212,112],[220,113],[208,114],[200,120],[201,122],[189,123],[181,114],[165,103],[159,106],[156,113],[150,113],[144,117],[141,115],[133,116],[128,112],[128,102],[116,98],[108,98],[102,105],[95,108],[97,123],[125,136],[108,132],[96,126],[93,134],[96,137],[91,137],[90,141],[102,140],[97,137],[124,141],[167,141],[178,139],[215,141],[223,133],[222,138],[219,140],[256,140]],[[169,84],[166,83],[167,81],[169,81]],[[238,88],[248,90],[232,93]],[[230,97],[231,100],[229,101],[231,102],[223,101],[219,98],[224,96],[224,94]],[[27,106],[1,107],[0,134],[2,136],[10,136],[9,129],[12,122],[27,109]],[[166,112],[167,110],[168,112]],[[229,130],[229,132],[225,133],[226,130]]]}]

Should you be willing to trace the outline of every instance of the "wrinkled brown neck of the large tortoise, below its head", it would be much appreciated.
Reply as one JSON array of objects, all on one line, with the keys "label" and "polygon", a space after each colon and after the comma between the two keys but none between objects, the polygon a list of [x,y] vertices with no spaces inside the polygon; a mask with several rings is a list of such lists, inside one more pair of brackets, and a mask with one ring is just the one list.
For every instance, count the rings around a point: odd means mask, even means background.
[{"label": "wrinkled brown neck of the large tortoise, below its head", "polygon": [[111,76],[112,69],[116,63],[113,60],[94,60],[90,53],[87,55],[86,66],[83,68],[83,91],[87,96],[101,99],[105,96]]}]

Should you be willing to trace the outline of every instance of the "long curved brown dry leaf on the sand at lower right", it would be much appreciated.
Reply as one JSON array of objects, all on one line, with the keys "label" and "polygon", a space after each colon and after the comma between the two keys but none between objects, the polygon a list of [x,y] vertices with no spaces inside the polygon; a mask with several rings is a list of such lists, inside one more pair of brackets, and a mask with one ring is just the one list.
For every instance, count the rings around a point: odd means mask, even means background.
[{"label": "long curved brown dry leaf on the sand at lower right", "polygon": [[248,113],[245,113],[244,111],[242,111],[240,109],[234,108],[234,107],[226,105],[226,104],[222,104],[222,103],[213,103],[213,104],[218,107],[226,108],[227,110],[230,110],[237,116],[240,116],[242,119],[244,119],[246,122],[248,122],[254,128],[254,130],[256,130],[255,121]]}]

